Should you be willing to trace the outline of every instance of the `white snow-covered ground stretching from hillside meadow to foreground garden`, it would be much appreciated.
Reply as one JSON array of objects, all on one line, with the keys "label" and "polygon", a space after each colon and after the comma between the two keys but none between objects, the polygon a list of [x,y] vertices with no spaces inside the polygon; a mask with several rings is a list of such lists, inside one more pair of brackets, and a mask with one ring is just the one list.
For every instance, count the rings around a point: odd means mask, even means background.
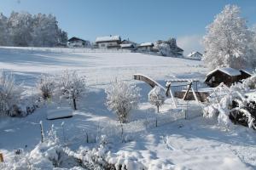
[{"label": "white snow-covered ground stretching from hillside meadow to foreground garden", "polygon": [[[43,159],[55,156],[53,149],[47,150],[45,155],[38,154],[36,149],[41,147],[34,149],[41,140],[40,121],[44,131],[49,131],[54,124],[61,145],[70,150],[82,146],[96,148],[97,156],[104,155],[105,150],[105,161],[126,165],[127,169],[256,168],[256,133],[253,130],[235,125],[225,129],[201,116],[193,118],[201,114],[195,102],[189,102],[191,117],[184,119],[181,109],[187,107],[187,102],[182,99],[177,100],[178,109],[173,109],[172,99],[167,99],[156,114],[154,105],[148,104],[150,87],[132,80],[135,73],[152,77],[161,85],[169,78],[204,80],[208,70],[201,61],[137,53],[84,53],[65,48],[0,48],[0,68],[12,71],[26,94],[38,93],[35,84],[41,74],[58,74],[66,69],[86,76],[88,85],[88,94],[79,100],[79,110],[70,118],[47,120],[47,113],[53,110],[48,105],[42,105],[24,118],[0,117],[3,168],[21,166],[23,161],[17,161],[19,156],[14,153],[17,149],[27,153],[33,150],[29,155],[30,163],[37,164],[38,169],[53,168]],[[116,116],[104,104],[104,90],[116,77],[135,82],[142,88],[139,108],[132,111],[130,123],[123,126],[123,135]],[[105,144],[103,151],[97,150],[102,147],[100,144]],[[58,169],[71,167],[72,164],[62,163]]]}]

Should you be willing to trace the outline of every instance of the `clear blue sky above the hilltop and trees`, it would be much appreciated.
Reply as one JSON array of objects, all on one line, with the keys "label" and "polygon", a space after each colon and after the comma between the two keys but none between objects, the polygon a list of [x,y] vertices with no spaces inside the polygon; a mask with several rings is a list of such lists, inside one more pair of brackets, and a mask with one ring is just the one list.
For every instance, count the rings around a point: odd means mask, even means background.
[{"label": "clear blue sky above the hilltop and trees", "polygon": [[68,37],[90,41],[108,35],[135,42],[176,37],[189,54],[203,51],[206,26],[225,4],[240,6],[248,26],[256,23],[256,0],[0,0],[0,10],[54,14]]}]

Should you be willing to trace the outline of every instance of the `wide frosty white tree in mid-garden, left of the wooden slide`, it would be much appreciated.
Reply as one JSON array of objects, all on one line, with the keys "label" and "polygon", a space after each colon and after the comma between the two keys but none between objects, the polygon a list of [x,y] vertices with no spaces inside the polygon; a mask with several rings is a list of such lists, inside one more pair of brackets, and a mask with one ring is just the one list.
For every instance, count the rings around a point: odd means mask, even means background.
[{"label": "wide frosty white tree in mid-garden, left of the wooden slide", "polygon": [[108,110],[116,113],[120,123],[128,122],[130,111],[137,108],[140,88],[128,82],[115,80],[105,92]]}]

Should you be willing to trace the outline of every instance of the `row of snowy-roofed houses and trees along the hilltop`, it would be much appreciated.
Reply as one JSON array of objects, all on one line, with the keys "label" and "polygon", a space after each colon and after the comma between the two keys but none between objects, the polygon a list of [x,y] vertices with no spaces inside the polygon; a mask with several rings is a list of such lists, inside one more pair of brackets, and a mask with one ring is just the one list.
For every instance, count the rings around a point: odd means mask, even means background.
[{"label": "row of snowy-roofed houses and trees along the hilltop", "polygon": [[183,49],[177,47],[175,38],[170,38],[167,41],[158,40],[156,42],[137,43],[128,39],[121,39],[120,36],[96,37],[95,42],[72,37],[67,41],[68,48],[99,48],[99,49],[124,49],[137,53],[152,53],[162,56],[172,56],[179,58],[188,58],[201,60],[200,52],[191,52],[188,56],[183,55]]}]

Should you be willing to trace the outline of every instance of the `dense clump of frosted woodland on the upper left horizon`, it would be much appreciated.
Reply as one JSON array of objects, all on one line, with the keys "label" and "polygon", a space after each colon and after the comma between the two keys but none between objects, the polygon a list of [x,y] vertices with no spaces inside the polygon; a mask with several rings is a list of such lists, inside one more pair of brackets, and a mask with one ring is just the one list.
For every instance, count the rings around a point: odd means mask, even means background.
[{"label": "dense clump of frosted woodland on the upper left horizon", "polygon": [[0,46],[66,46],[67,32],[62,31],[52,14],[12,12],[0,14]]}]

